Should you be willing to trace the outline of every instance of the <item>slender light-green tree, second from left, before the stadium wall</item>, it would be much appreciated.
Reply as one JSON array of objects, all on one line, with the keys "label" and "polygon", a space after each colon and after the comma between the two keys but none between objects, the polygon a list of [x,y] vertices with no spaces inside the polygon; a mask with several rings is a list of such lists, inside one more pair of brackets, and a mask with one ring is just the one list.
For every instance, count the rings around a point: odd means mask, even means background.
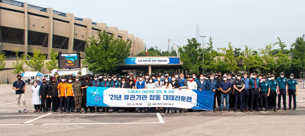
[{"label": "slender light-green tree, second from left, before the stadium wall", "polygon": [[14,68],[14,71],[12,71],[12,73],[16,73],[17,75],[19,75],[19,73],[23,73],[25,71],[25,68],[23,68],[24,65],[24,60],[22,58],[24,58],[24,53],[21,54],[21,57],[18,56],[19,54],[19,46],[18,47],[14,47],[13,52],[16,53],[16,62],[13,62],[12,64],[12,69]]}]

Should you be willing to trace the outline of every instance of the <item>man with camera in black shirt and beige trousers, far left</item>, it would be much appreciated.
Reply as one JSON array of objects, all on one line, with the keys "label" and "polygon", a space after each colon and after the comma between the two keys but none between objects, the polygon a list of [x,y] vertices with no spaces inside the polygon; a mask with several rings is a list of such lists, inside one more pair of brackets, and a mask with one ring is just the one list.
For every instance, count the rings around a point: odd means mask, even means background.
[{"label": "man with camera in black shirt and beige trousers, far left", "polygon": [[20,99],[22,100],[23,103],[23,112],[26,113],[26,103],[25,103],[25,95],[24,91],[26,90],[26,86],[24,81],[21,80],[21,75],[17,76],[17,81],[13,83],[13,89],[16,90],[16,99],[17,99],[17,107],[18,111],[17,113],[20,113]]}]

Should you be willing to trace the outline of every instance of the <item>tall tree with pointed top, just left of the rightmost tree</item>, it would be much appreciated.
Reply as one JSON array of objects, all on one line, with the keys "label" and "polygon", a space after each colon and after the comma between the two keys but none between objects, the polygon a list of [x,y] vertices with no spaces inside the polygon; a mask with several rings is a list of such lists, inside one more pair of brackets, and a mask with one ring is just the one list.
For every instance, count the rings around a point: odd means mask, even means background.
[{"label": "tall tree with pointed top, just left of the rightmost tree", "polygon": [[291,66],[291,60],[289,60],[288,55],[285,54],[285,47],[287,47],[285,42],[282,42],[281,39],[278,37],[278,42],[274,43],[274,45],[280,46],[279,52],[275,54],[274,56],[277,57],[275,60],[277,72],[285,72],[285,70],[289,69]]}]

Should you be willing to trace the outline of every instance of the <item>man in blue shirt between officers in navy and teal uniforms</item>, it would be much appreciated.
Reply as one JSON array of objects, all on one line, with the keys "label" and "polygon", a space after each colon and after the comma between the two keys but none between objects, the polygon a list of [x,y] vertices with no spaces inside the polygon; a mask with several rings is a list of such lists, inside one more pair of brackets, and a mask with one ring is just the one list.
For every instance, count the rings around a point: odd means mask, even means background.
[{"label": "man in blue shirt between officers in navy and teal uniforms", "polygon": [[242,80],[244,80],[245,82],[245,88],[242,90],[242,107],[243,107],[243,111],[248,111],[248,103],[249,103],[249,78],[248,78],[248,73],[244,72],[243,73],[243,78]]}]

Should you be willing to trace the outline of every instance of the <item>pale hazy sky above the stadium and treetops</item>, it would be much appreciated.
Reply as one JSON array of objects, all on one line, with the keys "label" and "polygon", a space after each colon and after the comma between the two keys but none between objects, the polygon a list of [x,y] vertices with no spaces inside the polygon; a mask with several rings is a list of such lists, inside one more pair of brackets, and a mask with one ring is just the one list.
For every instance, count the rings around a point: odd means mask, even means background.
[{"label": "pale hazy sky above the stadium and treetops", "polygon": [[304,0],[17,1],[107,23],[143,39],[148,48],[157,46],[163,51],[168,49],[166,38],[178,46],[195,38],[197,23],[201,36],[206,36],[204,42],[211,36],[215,50],[228,47],[228,42],[242,50],[244,45],[257,50],[276,43],[277,37],[289,49],[305,34]]}]

